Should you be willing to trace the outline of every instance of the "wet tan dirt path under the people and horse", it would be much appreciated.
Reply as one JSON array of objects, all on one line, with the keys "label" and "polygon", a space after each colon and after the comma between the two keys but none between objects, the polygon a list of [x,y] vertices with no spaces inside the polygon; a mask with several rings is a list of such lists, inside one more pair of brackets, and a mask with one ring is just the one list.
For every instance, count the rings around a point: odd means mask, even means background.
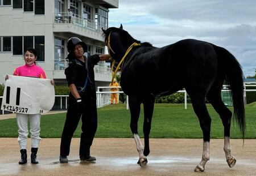
[{"label": "wet tan dirt path under the people and horse", "polygon": [[68,164],[59,162],[60,139],[43,139],[39,164],[30,163],[29,152],[28,163],[19,165],[17,139],[0,138],[0,175],[256,175],[256,140],[245,140],[244,147],[241,139],[231,140],[232,154],[237,159],[234,168],[226,164],[224,141],[211,140],[210,161],[204,173],[193,171],[201,160],[201,139],[151,139],[148,164],[143,168],[137,165],[134,139],[94,139],[91,154],[97,161],[93,163],[80,162],[79,141],[72,140]]}]

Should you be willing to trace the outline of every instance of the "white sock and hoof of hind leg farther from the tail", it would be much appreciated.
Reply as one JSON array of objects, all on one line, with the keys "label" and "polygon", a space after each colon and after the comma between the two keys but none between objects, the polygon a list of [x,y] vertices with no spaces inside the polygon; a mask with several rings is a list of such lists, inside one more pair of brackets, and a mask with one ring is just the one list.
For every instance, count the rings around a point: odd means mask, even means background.
[{"label": "white sock and hoof of hind leg farther from the tail", "polygon": [[203,142],[202,160],[199,163],[199,165],[196,166],[195,171],[204,171],[205,164],[207,163],[208,160],[210,160],[210,142],[204,141]]}]

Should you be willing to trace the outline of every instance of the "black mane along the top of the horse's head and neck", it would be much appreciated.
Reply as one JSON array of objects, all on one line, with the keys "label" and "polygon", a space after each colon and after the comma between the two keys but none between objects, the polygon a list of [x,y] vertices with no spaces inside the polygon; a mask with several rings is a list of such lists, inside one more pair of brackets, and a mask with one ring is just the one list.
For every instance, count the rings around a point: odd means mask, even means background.
[{"label": "black mane along the top of the horse's head and neck", "polygon": [[141,44],[142,46],[152,46],[149,42],[141,43],[141,41],[133,38],[127,31],[125,31],[121,28],[115,28],[115,27],[110,27],[110,28],[106,29],[106,33],[102,33],[102,36],[105,37],[105,43],[107,43],[107,41],[108,41],[108,36],[109,36],[110,32],[115,32],[115,31],[122,33],[122,36],[125,37],[125,40],[127,40],[127,41],[131,40],[133,42],[137,42],[138,44]]}]

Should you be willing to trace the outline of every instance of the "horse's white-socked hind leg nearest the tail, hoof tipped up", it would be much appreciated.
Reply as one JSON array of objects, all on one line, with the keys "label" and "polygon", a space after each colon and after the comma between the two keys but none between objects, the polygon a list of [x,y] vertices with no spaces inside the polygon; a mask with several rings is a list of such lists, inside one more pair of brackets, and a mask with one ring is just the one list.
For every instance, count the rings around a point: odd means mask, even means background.
[{"label": "horse's white-socked hind leg nearest the tail, hoof tipped up", "polygon": [[224,152],[226,155],[226,162],[230,168],[236,164],[236,158],[231,155],[231,147],[230,147],[230,121],[232,118],[232,112],[226,108],[224,102],[221,100],[221,92],[213,93],[213,91],[209,91],[207,95],[207,99],[210,104],[212,104],[213,108],[220,115],[222,125],[224,126]]}]

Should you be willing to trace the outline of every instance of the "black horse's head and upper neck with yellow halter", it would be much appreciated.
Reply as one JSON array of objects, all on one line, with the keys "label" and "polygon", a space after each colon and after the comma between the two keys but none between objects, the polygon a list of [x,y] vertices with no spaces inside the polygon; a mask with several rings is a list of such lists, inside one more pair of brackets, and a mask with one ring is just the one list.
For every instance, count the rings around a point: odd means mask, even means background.
[{"label": "black horse's head and upper neck with yellow halter", "polygon": [[102,31],[105,37],[105,44],[108,46],[108,51],[112,58],[110,61],[112,62],[113,71],[119,68],[122,69],[122,65],[119,65],[119,63],[124,59],[127,50],[134,43],[139,45],[141,42],[135,40],[127,31],[123,30],[122,24],[119,28],[110,27],[106,30],[102,28]]}]

